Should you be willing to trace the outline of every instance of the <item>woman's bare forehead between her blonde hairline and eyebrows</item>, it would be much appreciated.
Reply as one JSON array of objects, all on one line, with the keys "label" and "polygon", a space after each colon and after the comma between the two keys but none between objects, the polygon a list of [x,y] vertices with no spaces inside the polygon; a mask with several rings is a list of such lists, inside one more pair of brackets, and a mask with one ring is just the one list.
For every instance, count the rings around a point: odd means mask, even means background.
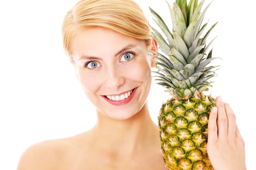
[{"label": "woman's bare forehead between her blonde hairline and eyebrows", "polygon": [[122,35],[110,29],[93,27],[78,30],[72,40],[74,55],[96,55],[100,52],[116,53],[125,46],[147,49],[144,40]]}]

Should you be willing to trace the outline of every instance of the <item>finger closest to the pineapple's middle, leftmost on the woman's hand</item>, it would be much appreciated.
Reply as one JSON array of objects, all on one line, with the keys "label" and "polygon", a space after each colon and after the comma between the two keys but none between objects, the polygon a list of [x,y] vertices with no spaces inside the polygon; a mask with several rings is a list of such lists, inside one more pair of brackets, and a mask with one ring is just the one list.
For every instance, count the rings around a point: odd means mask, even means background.
[{"label": "finger closest to the pineapple's middle, leftmost on the woman's hand", "polygon": [[218,141],[217,112],[218,108],[213,107],[209,115],[208,142],[216,143]]}]

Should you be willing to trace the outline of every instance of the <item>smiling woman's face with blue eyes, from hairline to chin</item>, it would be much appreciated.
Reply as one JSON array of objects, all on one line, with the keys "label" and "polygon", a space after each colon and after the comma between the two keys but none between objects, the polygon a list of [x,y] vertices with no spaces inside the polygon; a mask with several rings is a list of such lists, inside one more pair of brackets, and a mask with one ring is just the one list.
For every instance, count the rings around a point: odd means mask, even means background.
[{"label": "smiling woman's face with blue eyes, from hairline to chin", "polygon": [[76,33],[72,51],[79,82],[98,112],[128,119],[141,110],[151,86],[144,41],[94,27]]}]

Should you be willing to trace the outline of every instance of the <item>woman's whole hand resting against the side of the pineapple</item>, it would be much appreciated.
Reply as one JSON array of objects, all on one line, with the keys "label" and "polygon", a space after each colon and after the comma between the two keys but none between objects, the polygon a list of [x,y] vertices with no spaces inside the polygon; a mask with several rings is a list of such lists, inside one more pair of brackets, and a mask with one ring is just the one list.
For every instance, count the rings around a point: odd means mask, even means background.
[{"label": "woman's whole hand resting against the side of the pineapple", "polygon": [[207,152],[214,170],[246,170],[245,143],[236,115],[220,96],[209,116]]}]

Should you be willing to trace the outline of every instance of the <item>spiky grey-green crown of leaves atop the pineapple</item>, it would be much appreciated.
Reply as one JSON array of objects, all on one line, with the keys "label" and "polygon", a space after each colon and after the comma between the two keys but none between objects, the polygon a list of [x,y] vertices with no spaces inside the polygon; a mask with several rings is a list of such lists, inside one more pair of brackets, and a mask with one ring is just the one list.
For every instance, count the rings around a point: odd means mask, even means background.
[{"label": "spiky grey-green crown of leaves atop the pineapple", "polygon": [[152,71],[156,75],[157,84],[164,86],[166,92],[179,98],[187,98],[195,93],[208,91],[211,79],[215,77],[220,66],[208,66],[216,57],[211,57],[212,49],[207,54],[213,40],[206,44],[207,37],[218,22],[213,24],[207,33],[201,38],[207,28],[202,24],[208,6],[201,12],[205,0],[176,0],[173,7],[166,1],[171,14],[172,31],[164,20],[149,7],[153,14],[154,22],[164,33],[162,35],[150,25],[152,36],[157,41],[160,50],[164,53],[151,51],[156,60]]}]

